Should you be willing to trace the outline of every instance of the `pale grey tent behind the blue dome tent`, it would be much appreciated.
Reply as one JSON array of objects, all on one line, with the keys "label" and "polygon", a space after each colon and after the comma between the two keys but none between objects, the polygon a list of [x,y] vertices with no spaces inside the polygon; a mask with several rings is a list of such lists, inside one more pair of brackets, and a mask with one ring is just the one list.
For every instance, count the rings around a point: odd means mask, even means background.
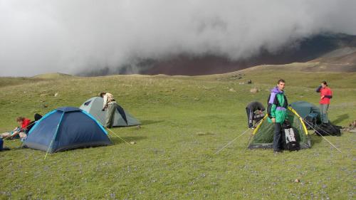
[{"label": "pale grey tent behind the blue dome tent", "polygon": [[[103,98],[100,97],[94,97],[86,100],[83,102],[82,105],[80,105],[80,109],[84,110],[86,112],[89,112],[90,115],[93,115],[98,122],[100,122],[101,125],[105,125],[105,115],[107,111],[102,111],[101,109],[103,108]],[[115,117],[114,117],[114,127],[126,127],[126,126],[135,126],[135,125],[140,125],[140,121],[135,119],[135,117],[132,117],[130,113],[128,113],[126,110],[124,110],[127,123],[125,120],[122,118],[122,115],[120,115],[118,110],[115,110]]]}]

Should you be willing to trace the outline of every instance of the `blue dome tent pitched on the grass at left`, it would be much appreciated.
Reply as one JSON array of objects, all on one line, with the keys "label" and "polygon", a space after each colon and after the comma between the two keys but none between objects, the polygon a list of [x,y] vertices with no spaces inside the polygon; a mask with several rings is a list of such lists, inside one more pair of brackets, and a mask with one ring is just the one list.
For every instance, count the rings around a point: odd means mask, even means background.
[{"label": "blue dome tent pitched on the grass at left", "polygon": [[77,107],[59,107],[33,126],[23,147],[49,153],[112,144],[93,116]]}]

